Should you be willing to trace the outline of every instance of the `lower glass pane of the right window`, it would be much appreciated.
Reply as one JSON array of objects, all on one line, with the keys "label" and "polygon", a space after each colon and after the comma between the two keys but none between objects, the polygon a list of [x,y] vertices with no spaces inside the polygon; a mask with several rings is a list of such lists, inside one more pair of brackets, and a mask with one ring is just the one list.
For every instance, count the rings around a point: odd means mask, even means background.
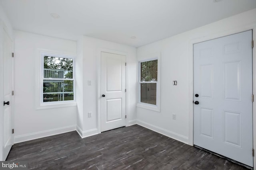
[{"label": "lower glass pane of the right window", "polygon": [[140,83],[140,102],[156,105],[156,83]]}]

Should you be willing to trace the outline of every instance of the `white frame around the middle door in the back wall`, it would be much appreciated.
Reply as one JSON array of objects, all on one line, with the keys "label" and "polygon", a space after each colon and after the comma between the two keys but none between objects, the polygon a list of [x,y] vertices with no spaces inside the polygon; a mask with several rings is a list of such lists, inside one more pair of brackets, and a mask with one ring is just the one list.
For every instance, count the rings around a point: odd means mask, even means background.
[{"label": "white frame around the middle door in the back wall", "polygon": [[[113,53],[113,54],[118,54],[118,55],[124,55],[126,57],[126,63],[127,63],[127,53],[122,52],[122,51],[115,51],[115,50],[111,50],[111,49],[103,49],[103,48],[99,48],[97,49],[97,79],[98,79],[98,107],[97,107],[97,113],[98,113],[98,133],[101,133],[101,52],[105,52],[105,53]],[[129,115],[128,115],[128,65],[126,65],[126,125],[129,125]]]}]

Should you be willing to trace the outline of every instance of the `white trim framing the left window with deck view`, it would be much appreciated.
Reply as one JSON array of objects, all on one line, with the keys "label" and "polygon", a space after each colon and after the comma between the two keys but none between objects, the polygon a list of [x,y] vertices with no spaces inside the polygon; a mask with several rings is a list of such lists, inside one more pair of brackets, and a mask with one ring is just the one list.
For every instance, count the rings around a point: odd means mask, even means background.
[{"label": "white trim framing the left window with deck view", "polygon": [[[37,53],[38,57],[36,59],[36,109],[51,109],[51,108],[59,108],[59,107],[70,107],[76,106],[76,66],[75,66],[75,56],[69,54],[62,54],[58,52],[52,51],[42,51],[38,49]],[[52,57],[64,57],[73,59],[73,79],[65,79],[65,80],[73,80],[73,87],[74,87],[74,100],[66,100],[66,101],[55,101],[55,102],[43,102],[42,95],[43,95],[43,68],[44,68],[44,59],[43,56],[52,56]],[[40,69],[38,69],[40,68]]]}]

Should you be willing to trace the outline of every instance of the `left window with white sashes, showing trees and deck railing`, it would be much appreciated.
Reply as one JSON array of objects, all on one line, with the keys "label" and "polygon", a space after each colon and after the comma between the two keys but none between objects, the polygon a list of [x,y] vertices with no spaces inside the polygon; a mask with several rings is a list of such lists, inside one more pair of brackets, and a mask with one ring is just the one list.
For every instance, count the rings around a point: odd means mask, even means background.
[{"label": "left window with white sashes, showing trees and deck railing", "polygon": [[41,103],[74,101],[74,58],[42,55]]}]

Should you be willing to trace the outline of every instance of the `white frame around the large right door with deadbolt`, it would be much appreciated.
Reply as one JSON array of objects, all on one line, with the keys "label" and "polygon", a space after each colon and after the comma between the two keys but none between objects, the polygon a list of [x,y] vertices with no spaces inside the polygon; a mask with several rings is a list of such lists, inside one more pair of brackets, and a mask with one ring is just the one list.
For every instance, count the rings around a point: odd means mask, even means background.
[{"label": "white frame around the large right door with deadbolt", "polygon": [[[197,39],[192,39],[188,44],[188,50],[190,53],[189,57],[189,107],[188,107],[188,145],[194,146],[194,52],[193,52],[193,45],[195,43],[200,43],[203,41],[208,41],[211,39],[216,39],[220,37],[224,37],[227,35],[232,35],[235,33],[240,33],[243,31],[252,30],[252,38],[256,41],[256,24],[253,25],[244,25],[242,27],[238,27],[228,31],[218,32],[216,34],[207,35],[205,37],[199,37]],[[253,93],[256,95],[256,47],[252,49],[252,83],[253,83]],[[252,104],[252,115],[253,115],[253,148],[256,149],[256,101]],[[256,159],[254,157],[254,170],[256,170]]]}]

